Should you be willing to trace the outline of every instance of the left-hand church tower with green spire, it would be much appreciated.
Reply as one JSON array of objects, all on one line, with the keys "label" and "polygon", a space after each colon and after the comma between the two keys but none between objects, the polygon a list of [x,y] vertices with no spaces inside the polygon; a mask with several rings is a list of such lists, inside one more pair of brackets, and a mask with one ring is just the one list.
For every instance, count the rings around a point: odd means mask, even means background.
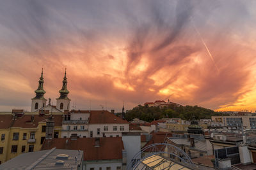
[{"label": "left-hand church tower with green spire", "polygon": [[43,108],[46,105],[46,99],[44,98],[45,90],[44,90],[44,77],[43,77],[43,69],[41,73],[41,77],[38,81],[38,88],[35,90],[36,97],[34,97],[31,103],[31,112],[34,112],[40,108]]}]

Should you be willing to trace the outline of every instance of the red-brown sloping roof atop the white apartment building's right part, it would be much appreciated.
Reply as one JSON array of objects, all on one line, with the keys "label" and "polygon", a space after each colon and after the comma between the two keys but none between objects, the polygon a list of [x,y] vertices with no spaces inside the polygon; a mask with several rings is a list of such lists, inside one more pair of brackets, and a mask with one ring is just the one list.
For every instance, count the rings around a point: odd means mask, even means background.
[{"label": "red-brown sloping roof atop the white apartment building's right part", "polygon": [[92,110],[90,111],[89,124],[129,124],[129,122],[106,110]]}]

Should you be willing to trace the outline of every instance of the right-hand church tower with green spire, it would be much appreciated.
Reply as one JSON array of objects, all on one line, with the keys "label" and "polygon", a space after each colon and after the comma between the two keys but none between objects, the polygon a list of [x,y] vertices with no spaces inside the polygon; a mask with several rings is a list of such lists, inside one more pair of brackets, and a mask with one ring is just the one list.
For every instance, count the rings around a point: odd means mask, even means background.
[{"label": "right-hand church tower with green spire", "polygon": [[68,99],[68,89],[67,89],[67,78],[66,78],[66,69],[65,69],[65,75],[62,81],[62,88],[59,91],[60,97],[57,100],[56,108],[58,110],[64,111],[69,110],[70,107],[70,99]]}]

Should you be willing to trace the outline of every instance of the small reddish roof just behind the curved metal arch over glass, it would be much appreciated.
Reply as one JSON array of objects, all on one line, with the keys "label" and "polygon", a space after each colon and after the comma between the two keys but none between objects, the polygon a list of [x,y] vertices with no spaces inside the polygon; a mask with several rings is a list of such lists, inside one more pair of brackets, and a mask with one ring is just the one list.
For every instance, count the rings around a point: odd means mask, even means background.
[{"label": "small reddish roof just behind the curved metal arch over glass", "polygon": [[[172,137],[172,133],[169,133],[169,132],[153,132],[150,134],[152,134],[152,138],[150,139],[150,141],[148,141],[148,143],[146,143],[145,146],[143,146],[143,148],[145,148],[148,145],[152,145],[154,143],[164,143],[167,137]],[[145,152],[150,152],[150,151],[145,150]]]}]

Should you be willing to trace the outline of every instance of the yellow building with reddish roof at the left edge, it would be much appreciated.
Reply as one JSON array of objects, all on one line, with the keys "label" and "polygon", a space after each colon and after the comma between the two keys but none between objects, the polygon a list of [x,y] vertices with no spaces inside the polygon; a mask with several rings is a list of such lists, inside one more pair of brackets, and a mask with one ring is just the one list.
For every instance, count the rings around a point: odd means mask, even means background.
[{"label": "yellow building with reddish roof at the left edge", "polygon": [[0,113],[0,163],[21,153],[39,151],[46,136],[48,121],[54,122],[52,138],[61,137],[62,113],[59,115],[31,115],[30,113],[15,119],[14,117],[12,113]]}]

